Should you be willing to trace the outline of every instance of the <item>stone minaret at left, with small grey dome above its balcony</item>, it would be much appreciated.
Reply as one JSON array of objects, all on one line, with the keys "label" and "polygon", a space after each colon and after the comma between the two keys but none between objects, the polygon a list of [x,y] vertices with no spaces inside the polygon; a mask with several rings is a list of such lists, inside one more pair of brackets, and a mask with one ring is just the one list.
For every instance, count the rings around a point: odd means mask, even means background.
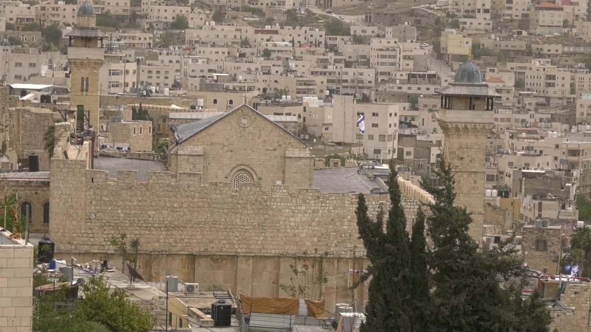
[{"label": "stone minaret at left, with small grey dome above its balcony", "polygon": [[103,38],[107,35],[96,28],[95,8],[90,2],[85,1],[80,6],[76,27],[66,36],[70,38],[68,62],[72,69],[70,109],[83,108],[89,116],[90,125],[98,133],[101,90],[99,70],[105,62]]}]

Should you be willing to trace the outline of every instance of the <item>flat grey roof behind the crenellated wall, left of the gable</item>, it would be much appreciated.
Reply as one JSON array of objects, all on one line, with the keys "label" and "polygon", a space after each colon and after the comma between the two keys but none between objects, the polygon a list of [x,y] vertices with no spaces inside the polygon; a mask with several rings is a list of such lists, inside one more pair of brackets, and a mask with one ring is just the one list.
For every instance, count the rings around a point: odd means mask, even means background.
[{"label": "flat grey roof behind the crenellated wall, left of the gable", "polygon": [[163,161],[97,157],[95,170],[108,171],[110,178],[116,178],[118,171],[138,171],[138,181],[148,181],[148,172],[165,172],[166,165]]}]

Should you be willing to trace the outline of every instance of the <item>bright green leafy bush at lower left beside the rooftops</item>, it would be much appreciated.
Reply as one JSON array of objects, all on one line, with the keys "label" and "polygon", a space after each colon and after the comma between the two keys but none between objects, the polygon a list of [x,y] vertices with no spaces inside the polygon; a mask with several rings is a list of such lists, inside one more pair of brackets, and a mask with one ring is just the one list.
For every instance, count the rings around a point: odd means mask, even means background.
[{"label": "bright green leafy bush at lower left beside the rooftops", "polygon": [[129,301],[125,291],[109,289],[104,276],[91,276],[80,289],[85,298],[76,305],[76,314],[87,321],[95,321],[118,332],[149,332],[152,329],[150,313]]}]

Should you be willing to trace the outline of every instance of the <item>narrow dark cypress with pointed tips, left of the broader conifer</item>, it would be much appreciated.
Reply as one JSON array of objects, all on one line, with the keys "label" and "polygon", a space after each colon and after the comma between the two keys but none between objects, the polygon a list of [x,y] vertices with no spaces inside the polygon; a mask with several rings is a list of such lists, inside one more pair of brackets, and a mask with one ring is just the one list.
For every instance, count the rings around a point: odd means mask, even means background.
[{"label": "narrow dark cypress with pointed tips, left of the broader conifer", "polygon": [[362,332],[418,331],[414,321],[413,302],[415,289],[411,287],[410,239],[406,231],[406,217],[402,209],[402,196],[398,187],[397,172],[390,165],[388,193],[390,208],[384,225],[384,210],[380,206],[375,221],[368,216],[365,196],[359,194],[355,214],[359,238],[371,262],[368,288],[367,321]]}]

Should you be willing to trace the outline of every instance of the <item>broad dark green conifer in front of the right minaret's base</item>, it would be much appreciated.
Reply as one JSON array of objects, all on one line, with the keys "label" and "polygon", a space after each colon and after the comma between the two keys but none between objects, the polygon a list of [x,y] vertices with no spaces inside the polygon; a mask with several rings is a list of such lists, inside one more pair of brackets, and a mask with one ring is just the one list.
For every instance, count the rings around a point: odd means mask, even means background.
[{"label": "broad dark green conifer in front of the right minaret's base", "polygon": [[[524,310],[521,289],[499,287],[497,277],[522,273],[522,262],[508,243],[479,251],[468,234],[472,218],[465,207],[454,206],[456,198],[452,170],[437,158],[435,178],[421,185],[434,198],[427,218],[432,242],[429,268],[432,284],[431,321],[434,332],[443,331],[548,331],[550,313],[535,298]],[[440,182],[441,185],[437,185]],[[486,298],[486,301],[482,299]],[[530,304],[528,304],[530,305]],[[531,329],[535,328],[535,329]]]}]

